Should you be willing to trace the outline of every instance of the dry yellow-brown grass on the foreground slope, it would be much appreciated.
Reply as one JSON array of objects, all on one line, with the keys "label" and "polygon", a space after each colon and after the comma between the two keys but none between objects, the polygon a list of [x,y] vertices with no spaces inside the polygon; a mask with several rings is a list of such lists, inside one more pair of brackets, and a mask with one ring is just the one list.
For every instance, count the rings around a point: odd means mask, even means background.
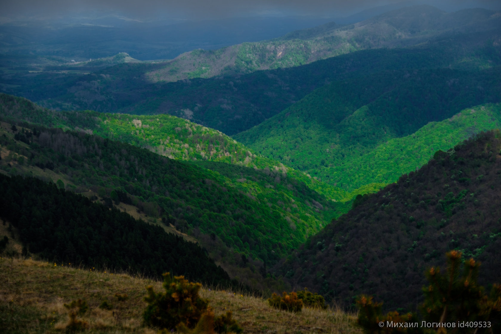
[{"label": "dry yellow-brown grass on the foreground slope", "polygon": [[[160,281],[127,274],[88,269],[21,258],[0,258],[0,332],[61,333],[69,323],[65,303],[84,299],[89,310],[78,316],[89,333],[153,334],[156,328],[142,325],[145,287],[162,290]],[[118,301],[115,294],[127,294]],[[308,309],[298,313],[273,309],[266,299],[236,292],[202,288],[216,315],[233,312],[245,333],[359,333],[355,315],[340,310]],[[102,310],[103,300],[112,303]]]}]

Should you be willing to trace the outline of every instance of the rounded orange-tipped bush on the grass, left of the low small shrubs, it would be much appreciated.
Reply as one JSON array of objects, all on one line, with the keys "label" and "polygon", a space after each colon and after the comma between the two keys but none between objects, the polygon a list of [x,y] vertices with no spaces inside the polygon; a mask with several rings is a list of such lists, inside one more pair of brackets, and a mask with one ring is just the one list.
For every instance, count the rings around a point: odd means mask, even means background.
[{"label": "rounded orange-tipped bush on the grass, left of the low small shrubs", "polygon": [[191,283],[184,276],[171,277],[169,272],[162,276],[165,292],[155,293],[152,286],[146,288],[148,296],[144,300],[148,306],[143,314],[144,322],[167,329],[174,329],[181,322],[189,328],[195,327],[207,311],[208,300],[198,295],[202,285]]}]

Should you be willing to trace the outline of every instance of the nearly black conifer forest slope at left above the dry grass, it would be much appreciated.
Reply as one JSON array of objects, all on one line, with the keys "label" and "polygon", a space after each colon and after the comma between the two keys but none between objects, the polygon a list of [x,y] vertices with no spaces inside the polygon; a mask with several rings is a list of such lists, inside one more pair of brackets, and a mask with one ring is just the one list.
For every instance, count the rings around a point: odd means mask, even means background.
[{"label": "nearly black conifer forest slope at left above the dry grass", "polygon": [[166,271],[207,284],[230,282],[200,246],[160,226],[93,203],[54,183],[0,173],[0,217],[30,252],[58,263],[127,270],[150,277]]}]

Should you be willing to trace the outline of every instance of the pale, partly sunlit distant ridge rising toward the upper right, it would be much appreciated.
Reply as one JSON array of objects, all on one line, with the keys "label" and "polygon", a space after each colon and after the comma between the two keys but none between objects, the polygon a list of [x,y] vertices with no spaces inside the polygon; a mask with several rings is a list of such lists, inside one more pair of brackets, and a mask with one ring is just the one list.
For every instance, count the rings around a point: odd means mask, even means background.
[{"label": "pale, partly sunlit distant ridge rising toward the upper right", "polygon": [[412,6],[354,25],[329,23],[271,41],[191,51],[147,73],[147,77],[153,82],[177,81],[287,68],[357,50],[418,45],[452,34],[499,31],[500,27],[501,16],[493,11],[446,13],[431,6]]}]

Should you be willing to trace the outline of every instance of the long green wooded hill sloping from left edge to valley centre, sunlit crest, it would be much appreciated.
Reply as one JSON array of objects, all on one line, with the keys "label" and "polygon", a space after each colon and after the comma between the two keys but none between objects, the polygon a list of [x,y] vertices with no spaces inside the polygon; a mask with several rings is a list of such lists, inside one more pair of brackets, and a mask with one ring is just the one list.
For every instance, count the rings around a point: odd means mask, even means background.
[{"label": "long green wooded hill sloping from left edge to valley centre, sunlit crest", "polygon": [[[227,163],[231,157],[220,154],[221,147],[244,147],[217,131],[183,119],[168,115],[163,118],[162,138],[171,135],[173,143],[182,144],[175,146],[173,152],[177,154],[179,150],[182,158],[185,150],[189,152],[198,143],[204,149],[212,146],[217,154],[207,154],[206,159],[195,159],[189,154],[184,156],[185,161],[169,159],[138,146],[89,134],[89,127],[103,133],[114,129],[118,139],[117,133],[123,129],[118,125],[122,123],[127,125],[124,133],[131,129],[154,131],[156,125],[147,127],[147,120],[144,127],[135,127],[132,122],[123,122],[127,115],[61,113],[22,98],[5,95],[2,99],[0,114],[4,121],[11,122],[2,123],[0,134],[3,173],[57,182],[60,187],[118,207],[169,233],[196,240],[232,278],[255,288],[280,284],[272,278],[263,279],[267,265],[318,232],[332,217],[348,210],[349,202],[332,201],[312,187],[323,192],[332,189],[342,200],[349,198],[346,192],[329,188],[284,165],[273,165],[273,160],[245,153],[233,164]],[[115,117],[114,121],[108,117]],[[117,127],[107,128],[113,122],[117,122]],[[57,125],[66,131],[36,124]],[[179,124],[189,125],[191,133],[184,128],[186,136],[181,136],[176,129]],[[142,133],[134,136],[131,138],[137,137],[136,145],[146,145]],[[108,133],[108,137],[113,136]],[[231,153],[234,155],[234,151]],[[254,163],[260,168],[253,167]]]}]

